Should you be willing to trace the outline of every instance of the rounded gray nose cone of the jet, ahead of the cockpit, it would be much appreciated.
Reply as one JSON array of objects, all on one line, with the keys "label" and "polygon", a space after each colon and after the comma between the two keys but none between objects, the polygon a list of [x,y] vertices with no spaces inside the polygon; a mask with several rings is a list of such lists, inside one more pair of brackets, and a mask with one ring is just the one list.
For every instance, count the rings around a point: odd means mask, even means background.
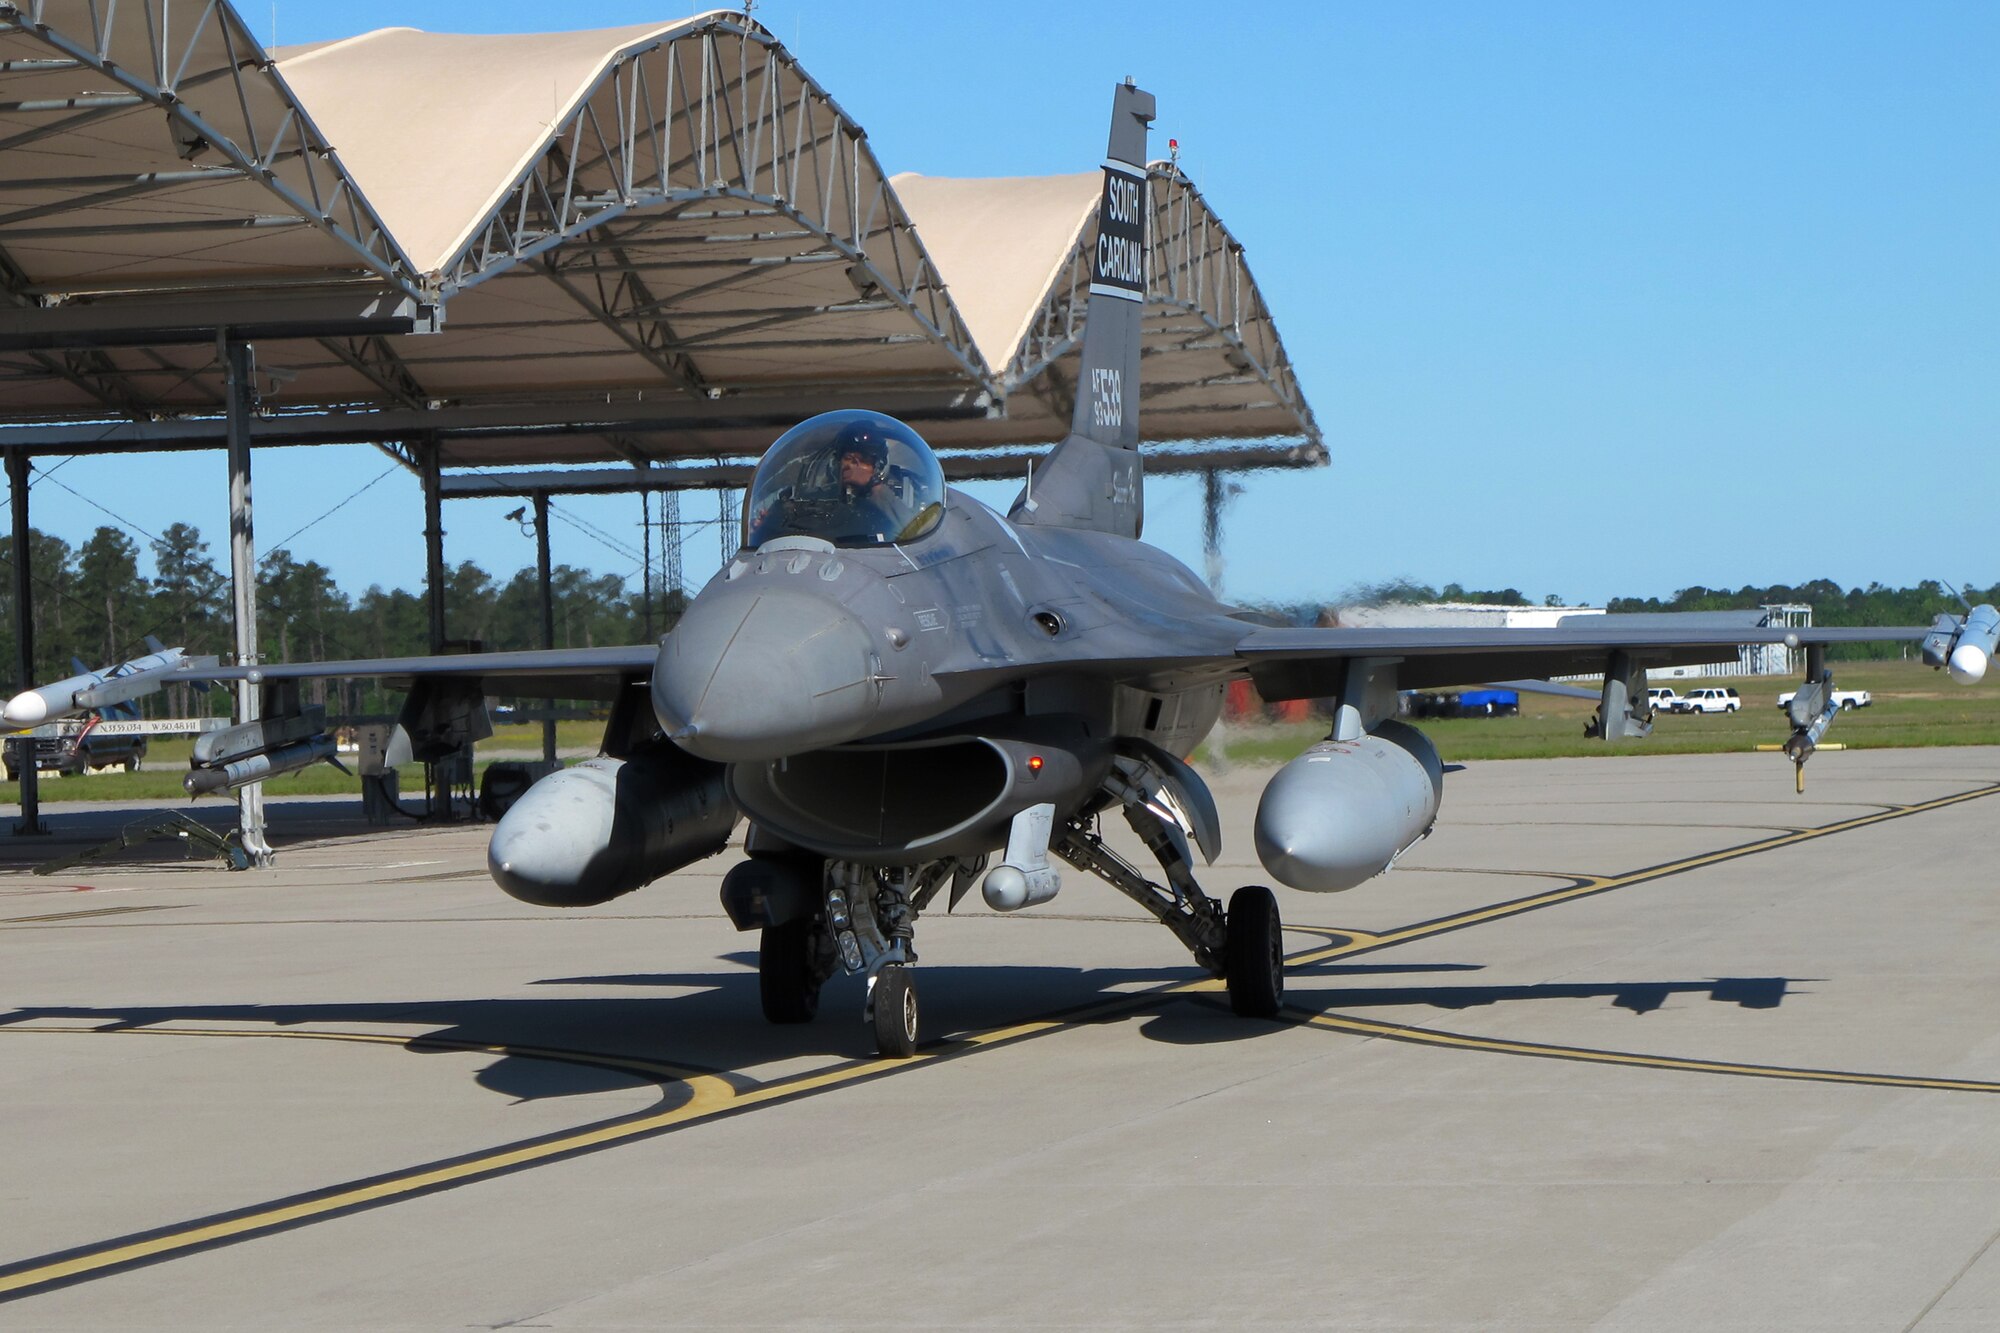
[{"label": "rounded gray nose cone of the jet, ahead of the cockpit", "polygon": [[782,759],[868,735],[880,681],[874,636],[838,600],[722,584],[660,644],[652,709],[702,759]]}]

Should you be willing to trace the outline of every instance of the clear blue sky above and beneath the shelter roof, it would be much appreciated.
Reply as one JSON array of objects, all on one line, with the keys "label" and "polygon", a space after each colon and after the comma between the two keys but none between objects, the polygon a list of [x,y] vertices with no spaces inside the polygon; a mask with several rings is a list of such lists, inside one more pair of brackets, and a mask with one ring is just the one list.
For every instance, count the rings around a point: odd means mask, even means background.
[{"label": "clear blue sky above and beneath the shelter roof", "polygon": [[[664,0],[248,0],[280,42],[378,26],[534,32]],[[1110,84],[1158,96],[1248,260],[1334,464],[1248,476],[1240,598],[1412,576],[1600,600],[1836,578],[2000,578],[2000,6],[756,6],[890,172],[1086,170]],[[260,450],[270,546],[378,476],[366,448]],[[226,534],[220,454],[64,464],[36,526]],[[1004,502],[1010,488],[982,492]],[[558,500],[558,562],[634,572],[638,500]],[[446,554],[534,550],[446,506]],[[712,512],[704,498],[692,516]],[[1148,538],[1200,566],[1200,500]],[[342,586],[416,586],[392,474],[290,542]],[[690,576],[716,560],[688,546]]]}]

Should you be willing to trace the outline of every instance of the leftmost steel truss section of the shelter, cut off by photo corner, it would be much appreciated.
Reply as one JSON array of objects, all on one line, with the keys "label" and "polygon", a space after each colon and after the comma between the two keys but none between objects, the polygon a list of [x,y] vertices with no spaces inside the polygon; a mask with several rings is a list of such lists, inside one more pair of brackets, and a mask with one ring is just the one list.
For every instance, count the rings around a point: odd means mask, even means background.
[{"label": "leftmost steel truss section of the shelter, cut off by photo corner", "polygon": [[[186,170],[128,174],[76,174],[62,178],[6,180],[0,200],[22,192],[58,192],[64,198],[8,208],[0,202],[0,246],[22,240],[64,240],[128,232],[246,232],[262,228],[314,228],[338,242],[352,264],[348,276],[368,276],[418,298],[410,264],[394,238],[348,180],[334,150],[300,110],[270,56],[250,36],[236,10],[218,0],[0,0],[0,40],[26,38],[46,58],[6,58],[10,74],[74,76],[104,80],[120,92],[84,92],[10,102],[6,110],[32,120],[30,128],[0,138],[0,150],[26,148],[122,116],[158,108],[174,152]],[[20,48],[22,42],[10,46]],[[206,158],[206,162],[204,162]],[[78,224],[66,214],[162,192],[256,182],[276,210],[236,216],[188,216],[174,222]],[[338,280],[326,274],[316,282]],[[240,288],[244,274],[216,282]],[[190,290],[206,286],[188,276],[162,280],[10,282],[18,296],[42,302],[94,294]]]}]

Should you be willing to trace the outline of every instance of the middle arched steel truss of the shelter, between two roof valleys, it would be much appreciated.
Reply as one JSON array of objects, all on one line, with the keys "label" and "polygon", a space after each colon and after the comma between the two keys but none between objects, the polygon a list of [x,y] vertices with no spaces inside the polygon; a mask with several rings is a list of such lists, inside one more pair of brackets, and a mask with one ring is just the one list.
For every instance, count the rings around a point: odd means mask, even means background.
[{"label": "middle arched steel truss of the shelter, between two roof valleys", "polygon": [[[690,392],[716,388],[702,348],[876,310],[914,320],[876,340],[934,342],[960,382],[992,382],[860,126],[736,16],[622,52],[434,282],[450,298],[524,264]],[[846,290],[676,328],[696,298],[806,264],[842,266]]]}]

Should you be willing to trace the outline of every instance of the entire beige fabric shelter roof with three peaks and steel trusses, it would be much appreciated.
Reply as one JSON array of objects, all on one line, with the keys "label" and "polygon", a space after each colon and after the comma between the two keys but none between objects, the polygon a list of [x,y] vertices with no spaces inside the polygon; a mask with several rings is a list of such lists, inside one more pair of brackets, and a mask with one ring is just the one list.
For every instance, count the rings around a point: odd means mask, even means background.
[{"label": "entire beige fabric shelter roof with three peaks and steel trusses", "polygon": [[[1068,422],[1096,172],[890,182],[734,10],[272,60],[228,4],[0,6],[0,442],[210,442],[212,338],[150,332],[204,324],[260,330],[260,438],[458,464],[754,454],[844,402],[946,446]],[[1148,438],[1324,458],[1240,246],[1152,188]],[[442,330],[370,334],[416,306]],[[106,414],[168,420],[60,426]]]}]

